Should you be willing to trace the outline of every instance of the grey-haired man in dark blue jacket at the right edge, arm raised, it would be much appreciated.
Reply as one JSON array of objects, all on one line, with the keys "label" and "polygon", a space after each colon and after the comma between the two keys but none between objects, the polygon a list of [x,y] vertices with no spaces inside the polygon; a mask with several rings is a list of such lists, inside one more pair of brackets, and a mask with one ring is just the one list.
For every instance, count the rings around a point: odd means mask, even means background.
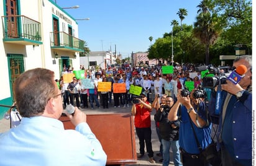
[{"label": "grey-haired man in dark blue jacket at the right edge, arm raised", "polygon": [[[252,56],[239,56],[233,66],[246,66],[247,71],[238,84],[227,80],[221,84],[221,100],[213,90],[209,113],[219,116],[217,136],[221,146],[222,164],[252,165]],[[216,101],[221,103],[216,113]]]}]

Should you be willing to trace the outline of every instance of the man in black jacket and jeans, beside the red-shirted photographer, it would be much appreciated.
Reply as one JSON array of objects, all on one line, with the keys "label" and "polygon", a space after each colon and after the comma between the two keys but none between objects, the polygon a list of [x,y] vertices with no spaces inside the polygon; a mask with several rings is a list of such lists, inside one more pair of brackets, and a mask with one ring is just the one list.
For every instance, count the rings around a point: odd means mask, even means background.
[{"label": "man in black jacket and jeans, beside the red-shirted photographer", "polygon": [[165,104],[161,105],[155,113],[155,120],[159,122],[160,136],[163,144],[163,165],[169,165],[170,162],[170,147],[173,152],[174,165],[182,165],[180,161],[180,152],[178,144],[178,130],[180,121],[168,120],[168,113],[173,106],[174,100],[172,97],[165,98]]}]

